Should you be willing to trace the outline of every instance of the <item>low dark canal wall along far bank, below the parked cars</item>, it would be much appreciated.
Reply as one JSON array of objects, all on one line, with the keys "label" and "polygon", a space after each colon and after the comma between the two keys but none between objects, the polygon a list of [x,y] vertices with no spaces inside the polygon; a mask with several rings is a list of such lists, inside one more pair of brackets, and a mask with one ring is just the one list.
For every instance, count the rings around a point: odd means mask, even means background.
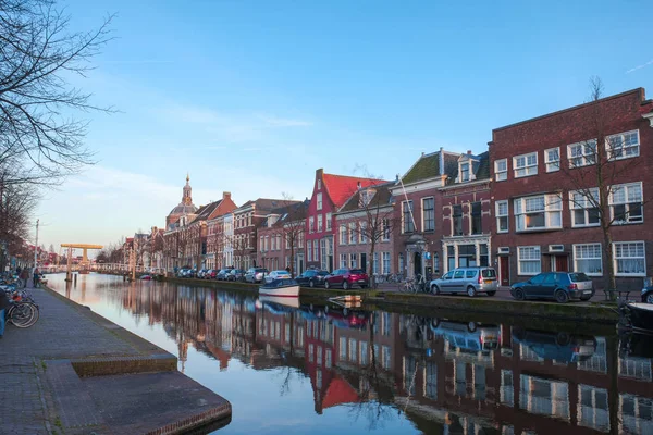
[{"label": "low dark canal wall along far bank, below the parked cars", "polygon": [[[181,285],[197,285],[206,287],[218,287],[224,290],[237,290],[247,293],[257,293],[258,285],[250,283],[234,283],[212,279],[194,279],[167,277],[164,281]],[[517,301],[505,298],[495,298],[478,296],[470,298],[467,296],[433,296],[423,294],[406,294],[399,291],[370,289],[349,289],[337,290],[323,288],[301,287],[301,298],[328,299],[334,296],[360,295],[365,304],[374,304],[380,309],[431,309],[431,310],[451,310],[459,312],[489,313],[509,315],[512,318],[528,319],[547,319],[568,322],[592,322],[614,325],[619,314],[616,306],[601,302],[578,302],[568,303],[546,302],[546,301]]]}]

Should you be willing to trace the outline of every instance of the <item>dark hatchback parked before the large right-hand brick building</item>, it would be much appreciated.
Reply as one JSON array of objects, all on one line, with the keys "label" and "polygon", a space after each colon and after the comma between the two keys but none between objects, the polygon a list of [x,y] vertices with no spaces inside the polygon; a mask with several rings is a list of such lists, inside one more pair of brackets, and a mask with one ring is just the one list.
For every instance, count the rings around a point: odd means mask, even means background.
[{"label": "dark hatchback parked before the large right-hand brick building", "polygon": [[543,272],[523,283],[513,284],[510,295],[517,300],[554,299],[565,303],[570,299],[590,299],[594,296],[594,284],[582,272]]}]

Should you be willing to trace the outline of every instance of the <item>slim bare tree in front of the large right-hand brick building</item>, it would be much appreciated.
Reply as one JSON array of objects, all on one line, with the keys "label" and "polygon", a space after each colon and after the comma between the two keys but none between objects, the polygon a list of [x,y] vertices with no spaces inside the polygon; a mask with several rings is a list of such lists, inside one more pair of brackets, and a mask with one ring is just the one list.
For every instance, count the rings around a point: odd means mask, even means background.
[{"label": "slim bare tree in front of the large right-hand brick building", "polygon": [[[603,97],[601,78],[590,79],[590,90],[591,116],[587,116],[583,127],[591,139],[568,146],[569,159],[564,163],[560,156],[556,156],[557,169],[563,175],[559,187],[569,190],[572,213],[578,213],[579,217],[582,214],[586,224],[601,228],[608,288],[616,289],[615,225],[641,222],[643,204],[651,198],[644,199],[641,186],[626,188],[621,185],[624,176],[642,164],[641,158],[627,158],[636,156],[634,151],[639,154],[641,146],[630,142],[631,137],[627,135],[615,135],[620,132],[614,130],[614,114],[600,101]],[[623,204],[614,206],[617,202]],[[615,299],[614,293],[611,293],[611,298]]]}]

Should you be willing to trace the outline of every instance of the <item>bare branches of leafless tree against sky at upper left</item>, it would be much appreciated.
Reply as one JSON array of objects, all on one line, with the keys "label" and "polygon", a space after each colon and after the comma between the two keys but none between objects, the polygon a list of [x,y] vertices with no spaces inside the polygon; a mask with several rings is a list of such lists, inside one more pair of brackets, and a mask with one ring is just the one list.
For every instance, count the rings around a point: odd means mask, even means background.
[{"label": "bare branches of leafless tree against sky at upper left", "polygon": [[5,183],[54,185],[94,163],[87,123],[71,114],[113,110],[93,104],[70,77],[91,70],[111,20],[74,33],[53,0],[0,0],[0,165],[16,169]]}]

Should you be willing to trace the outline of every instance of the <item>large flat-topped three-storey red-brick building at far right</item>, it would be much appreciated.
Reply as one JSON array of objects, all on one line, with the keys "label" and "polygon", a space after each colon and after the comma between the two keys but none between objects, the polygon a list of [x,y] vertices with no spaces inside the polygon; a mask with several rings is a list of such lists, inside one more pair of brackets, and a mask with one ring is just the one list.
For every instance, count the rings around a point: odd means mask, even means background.
[{"label": "large flat-topped three-storey red-brick building at far right", "polygon": [[[653,194],[644,183],[653,170],[652,111],[638,88],[492,132],[492,249],[503,285],[578,271],[605,288],[603,207],[614,220],[607,249],[617,286],[641,288],[653,274]],[[599,169],[607,190],[599,189]],[[581,191],[595,191],[599,202],[600,191],[609,195],[597,207]]]}]

